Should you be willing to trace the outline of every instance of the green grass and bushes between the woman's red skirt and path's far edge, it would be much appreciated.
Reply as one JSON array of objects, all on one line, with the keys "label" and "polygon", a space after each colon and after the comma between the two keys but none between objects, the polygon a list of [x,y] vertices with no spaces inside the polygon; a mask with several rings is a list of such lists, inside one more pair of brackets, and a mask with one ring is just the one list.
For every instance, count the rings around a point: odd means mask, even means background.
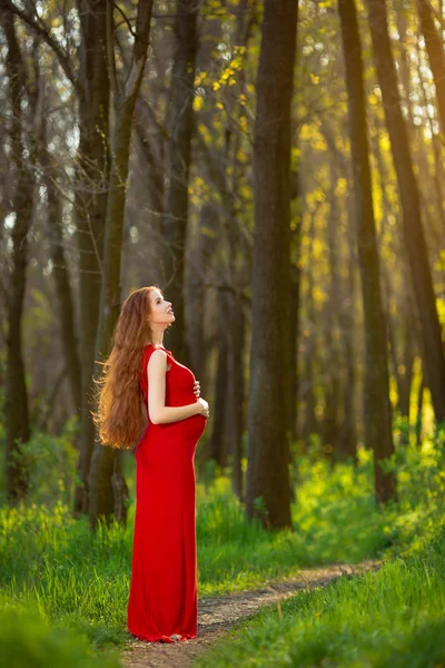
[{"label": "green grass and bushes between the woman's red skirt and path's far edge", "polygon": [[303,567],[358,562],[382,553],[388,542],[387,519],[376,508],[369,485],[370,462],[354,472],[327,462],[301,461],[301,480],[293,503],[294,531],[266,531],[249,521],[218,478],[208,495],[198,489],[198,566],[201,596],[258,586]]}]

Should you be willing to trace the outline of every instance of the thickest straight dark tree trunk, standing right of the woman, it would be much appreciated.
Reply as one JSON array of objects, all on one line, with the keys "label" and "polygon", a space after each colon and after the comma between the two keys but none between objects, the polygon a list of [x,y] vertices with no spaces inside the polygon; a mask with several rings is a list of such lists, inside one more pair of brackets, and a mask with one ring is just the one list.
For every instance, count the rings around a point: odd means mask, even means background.
[{"label": "thickest straight dark tree trunk, standing right of the woman", "polygon": [[[265,0],[254,139],[255,230],[246,510],[270,528],[291,528],[290,104],[296,0]],[[259,503],[259,505],[258,505]]]}]

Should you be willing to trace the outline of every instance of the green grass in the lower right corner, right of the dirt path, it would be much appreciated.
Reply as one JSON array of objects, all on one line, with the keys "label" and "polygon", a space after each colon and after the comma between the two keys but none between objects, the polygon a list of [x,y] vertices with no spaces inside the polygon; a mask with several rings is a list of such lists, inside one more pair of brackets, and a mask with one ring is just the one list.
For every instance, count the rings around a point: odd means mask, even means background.
[{"label": "green grass in the lower right corner, right of the dirt path", "polygon": [[445,537],[376,573],[263,609],[194,667],[426,668],[445,661]]}]

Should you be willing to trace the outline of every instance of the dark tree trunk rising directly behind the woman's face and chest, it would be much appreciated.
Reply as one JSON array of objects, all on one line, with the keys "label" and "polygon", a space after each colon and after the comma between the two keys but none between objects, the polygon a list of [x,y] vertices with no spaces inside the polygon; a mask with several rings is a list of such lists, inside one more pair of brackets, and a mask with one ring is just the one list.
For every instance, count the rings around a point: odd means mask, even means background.
[{"label": "dark tree trunk rising directly behind the woman's face and chest", "polygon": [[177,51],[172,69],[172,118],[169,147],[169,184],[164,225],[166,253],[164,278],[175,308],[169,346],[178,360],[189,364],[185,341],[184,272],[188,227],[188,179],[194,132],[195,63],[197,50],[196,0],[177,0]]}]

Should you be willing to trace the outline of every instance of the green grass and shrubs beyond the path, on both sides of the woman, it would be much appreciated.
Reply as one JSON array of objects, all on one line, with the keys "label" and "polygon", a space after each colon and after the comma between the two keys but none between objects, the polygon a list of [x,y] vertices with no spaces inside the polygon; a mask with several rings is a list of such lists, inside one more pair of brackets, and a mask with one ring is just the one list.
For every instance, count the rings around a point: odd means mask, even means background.
[{"label": "green grass and shrubs beyond the path, on both sides of the woman", "polygon": [[[293,509],[294,532],[270,534],[258,520],[249,521],[243,504],[231,493],[229,478],[209,477],[207,484],[198,483],[200,597],[296,574],[305,563],[337,558],[354,560],[364,552],[366,556],[378,552],[383,536],[379,520],[368,517],[362,527],[363,517],[372,510],[369,485],[360,492],[354,487],[354,477],[347,478],[346,472],[340,474],[344,479],[340,484],[338,474],[333,474],[329,482],[327,471],[320,477],[316,470],[312,475],[312,466],[307,464],[305,469],[300,464],[305,482]],[[348,484],[352,491],[349,501],[345,501]],[[318,498],[322,507],[322,497],[324,510],[314,503]],[[342,514],[339,509],[348,503],[349,510]],[[61,499],[52,501],[50,508],[37,503],[1,508],[0,588],[4,601],[37,601],[55,623],[63,620],[82,632],[88,631],[92,642],[122,641],[128,637],[126,607],[134,512],[131,504],[127,529],[115,522],[110,528],[100,524],[97,533],[91,533],[87,519],[75,520],[71,507]],[[319,528],[310,520],[314,513],[322,522]],[[345,522],[344,528],[340,522]]]}]

